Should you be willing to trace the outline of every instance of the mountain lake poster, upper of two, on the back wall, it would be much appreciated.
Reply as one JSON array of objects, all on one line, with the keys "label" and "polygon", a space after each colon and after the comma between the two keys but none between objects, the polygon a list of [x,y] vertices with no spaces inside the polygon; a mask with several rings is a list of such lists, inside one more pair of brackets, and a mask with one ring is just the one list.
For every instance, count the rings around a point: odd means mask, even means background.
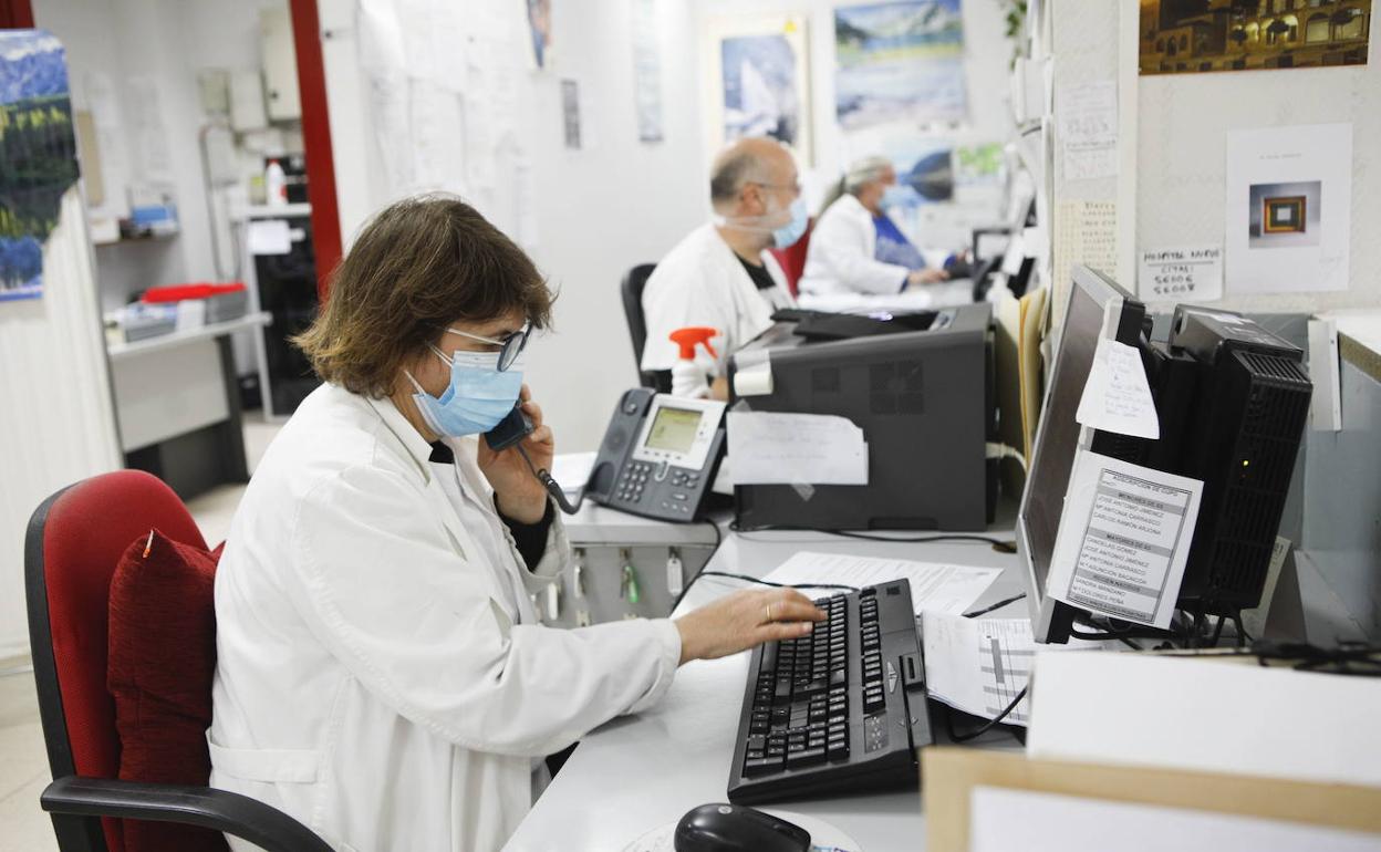
[{"label": "mountain lake poster, upper of two, on the back wall", "polygon": [[964,91],[960,0],[834,10],[836,115],[845,130],[885,122],[958,122]]}]

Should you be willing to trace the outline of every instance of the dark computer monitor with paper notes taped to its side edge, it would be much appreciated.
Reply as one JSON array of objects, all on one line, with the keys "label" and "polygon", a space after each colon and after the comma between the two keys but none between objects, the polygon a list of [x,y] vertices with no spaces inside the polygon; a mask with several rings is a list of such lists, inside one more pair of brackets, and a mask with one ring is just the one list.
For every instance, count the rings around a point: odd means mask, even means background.
[{"label": "dark computer monitor with paper notes taped to its side edge", "polygon": [[1032,630],[1039,641],[1068,637],[1074,614],[1072,608],[1045,595],[1045,577],[1055,551],[1074,452],[1088,449],[1094,438],[1094,429],[1074,420],[1084,380],[1094,366],[1094,349],[1101,337],[1135,344],[1145,313],[1145,307],[1121,287],[1092,269],[1074,267],[1050,388],[1036,427],[1026,487],[1016,511],[1016,551],[1027,572]]}]

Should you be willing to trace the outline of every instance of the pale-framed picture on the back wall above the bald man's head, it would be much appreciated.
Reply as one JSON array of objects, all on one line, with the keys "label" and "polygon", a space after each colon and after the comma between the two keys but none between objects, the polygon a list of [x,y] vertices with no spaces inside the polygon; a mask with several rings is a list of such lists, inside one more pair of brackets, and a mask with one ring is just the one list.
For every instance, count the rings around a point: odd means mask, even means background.
[{"label": "pale-framed picture on the back wall above the bald man's head", "polygon": [[790,148],[802,166],[812,163],[805,17],[711,18],[703,51],[710,151],[744,137],[771,137]]}]

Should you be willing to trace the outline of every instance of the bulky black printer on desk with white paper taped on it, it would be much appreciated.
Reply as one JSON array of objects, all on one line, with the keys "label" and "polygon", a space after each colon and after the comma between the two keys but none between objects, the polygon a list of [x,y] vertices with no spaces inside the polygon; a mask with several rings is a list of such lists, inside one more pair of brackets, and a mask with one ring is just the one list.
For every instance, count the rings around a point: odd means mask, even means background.
[{"label": "bulky black printer on desk with white paper taped on it", "polygon": [[735,395],[731,406],[847,417],[863,429],[869,483],[739,485],[739,526],[986,529],[996,487],[986,442],[997,425],[990,315],[986,304],[946,308],[925,330],[811,344],[782,323],[742,349],[731,359],[731,388],[739,363],[750,363],[744,354],[757,363],[766,349],[772,391]]}]

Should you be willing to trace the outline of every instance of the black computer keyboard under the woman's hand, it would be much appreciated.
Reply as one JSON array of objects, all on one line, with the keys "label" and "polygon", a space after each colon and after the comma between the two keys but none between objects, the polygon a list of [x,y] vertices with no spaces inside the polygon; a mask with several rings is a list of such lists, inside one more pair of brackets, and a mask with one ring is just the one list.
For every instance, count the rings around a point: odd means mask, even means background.
[{"label": "black computer keyboard under the woman's hand", "polygon": [[906,580],[826,598],[829,620],[753,652],[729,801],[914,784],[931,744]]}]

